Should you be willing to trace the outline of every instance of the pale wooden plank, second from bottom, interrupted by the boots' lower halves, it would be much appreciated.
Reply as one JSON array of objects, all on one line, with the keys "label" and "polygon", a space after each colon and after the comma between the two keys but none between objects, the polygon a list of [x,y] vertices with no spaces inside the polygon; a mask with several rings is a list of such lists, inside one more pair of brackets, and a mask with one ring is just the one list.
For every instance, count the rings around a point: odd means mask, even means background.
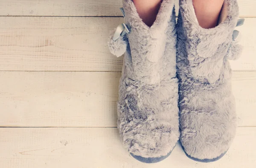
[{"label": "pale wooden plank, second from bottom, interrupted by the boots' lower halves", "polygon": [[[119,72],[0,72],[0,126],[116,127]],[[239,126],[256,126],[256,72],[233,72]]]}]

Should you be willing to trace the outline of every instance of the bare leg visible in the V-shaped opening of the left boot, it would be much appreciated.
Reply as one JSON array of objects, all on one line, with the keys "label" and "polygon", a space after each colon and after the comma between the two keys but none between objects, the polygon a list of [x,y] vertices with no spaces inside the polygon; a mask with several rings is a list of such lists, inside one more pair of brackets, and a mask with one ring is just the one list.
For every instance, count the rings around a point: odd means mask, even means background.
[{"label": "bare leg visible in the V-shaped opening of the left boot", "polygon": [[149,27],[156,20],[162,0],[133,0],[137,12],[143,22]]}]

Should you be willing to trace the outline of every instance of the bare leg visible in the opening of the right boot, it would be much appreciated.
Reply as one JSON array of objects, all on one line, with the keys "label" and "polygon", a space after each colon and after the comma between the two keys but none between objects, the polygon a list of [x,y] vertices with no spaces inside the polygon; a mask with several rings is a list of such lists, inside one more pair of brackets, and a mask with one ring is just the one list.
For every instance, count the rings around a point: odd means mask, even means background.
[{"label": "bare leg visible in the opening of the right boot", "polygon": [[195,15],[202,28],[217,26],[224,0],[193,0]]}]

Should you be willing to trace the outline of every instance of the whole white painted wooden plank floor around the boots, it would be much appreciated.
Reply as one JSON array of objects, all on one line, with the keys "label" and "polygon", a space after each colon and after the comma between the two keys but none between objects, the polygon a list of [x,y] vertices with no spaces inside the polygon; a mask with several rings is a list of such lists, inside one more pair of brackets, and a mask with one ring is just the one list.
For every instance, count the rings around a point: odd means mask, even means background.
[{"label": "whole white painted wooden plank floor around the boots", "polygon": [[[119,141],[122,57],[107,48],[121,0],[0,0],[0,168],[256,168],[256,0],[239,0],[244,51],[231,62],[239,128],[227,154],[177,145],[156,164]],[[118,16],[118,17],[116,17]]]}]

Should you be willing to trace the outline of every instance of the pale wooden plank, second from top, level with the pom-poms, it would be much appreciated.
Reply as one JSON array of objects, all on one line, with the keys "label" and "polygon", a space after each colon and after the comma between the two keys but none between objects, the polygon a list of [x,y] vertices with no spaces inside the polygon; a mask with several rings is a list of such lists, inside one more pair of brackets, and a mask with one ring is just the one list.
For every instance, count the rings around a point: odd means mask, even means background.
[{"label": "pale wooden plank, second from top, level with the pom-poms", "polygon": [[[121,71],[107,46],[119,17],[0,17],[0,71]],[[256,18],[239,27],[242,57],[233,70],[256,70]]]}]

